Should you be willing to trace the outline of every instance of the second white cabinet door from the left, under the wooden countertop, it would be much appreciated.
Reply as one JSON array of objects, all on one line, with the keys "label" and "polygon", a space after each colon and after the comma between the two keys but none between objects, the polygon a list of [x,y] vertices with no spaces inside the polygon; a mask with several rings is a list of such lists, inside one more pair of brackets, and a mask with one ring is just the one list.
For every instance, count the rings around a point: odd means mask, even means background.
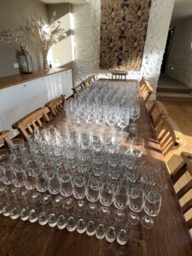
[{"label": "second white cabinet door from the left, under the wooden countertop", "polygon": [[43,107],[46,102],[49,102],[47,89],[47,78],[35,79],[22,84],[26,102],[27,113]]}]

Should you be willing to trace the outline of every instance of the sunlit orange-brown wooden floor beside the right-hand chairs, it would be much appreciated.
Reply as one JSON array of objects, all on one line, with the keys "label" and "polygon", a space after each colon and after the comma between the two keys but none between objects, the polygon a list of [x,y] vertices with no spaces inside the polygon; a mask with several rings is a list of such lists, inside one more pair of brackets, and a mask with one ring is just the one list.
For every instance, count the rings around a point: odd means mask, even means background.
[{"label": "sunlit orange-brown wooden floor beside the right-hand chairs", "polygon": [[[161,101],[162,102],[162,101]],[[192,103],[191,102],[162,102],[166,107],[170,117],[177,123],[179,129],[183,132],[183,145],[181,148],[173,149],[169,154],[166,155],[166,165],[168,166],[169,172],[173,170],[182,162],[180,157],[181,152],[189,152],[192,154]],[[192,179],[187,173],[181,180],[175,185],[176,191],[183,187],[183,184]],[[188,192],[186,197],[180,201],[181,205],[187,200],[192,198],[192,190]],[[189,219],[192,216],[192,210],[189,211],[185,218]],[[190,230],[192,235],[192,230]]]}]

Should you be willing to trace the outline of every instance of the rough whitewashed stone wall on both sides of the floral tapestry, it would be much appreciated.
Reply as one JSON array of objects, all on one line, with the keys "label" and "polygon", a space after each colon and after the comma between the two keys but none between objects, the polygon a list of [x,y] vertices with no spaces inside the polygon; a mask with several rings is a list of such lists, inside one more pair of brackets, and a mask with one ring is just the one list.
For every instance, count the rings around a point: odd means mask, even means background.
[{"label": "rough whitewashed stone wall on both sides of the floral tapestry", "polygon": [[[175,0],[152,0],[148,32],[140,72],[129,72],[129,79],[144,77],[154,89],[160,75],[160,67],[166,46],[166,37],[172,18]],[[108,76],[99,70],[101,1],[73,6],[75,20],[75,73],[76,84],[90,74]]]}]

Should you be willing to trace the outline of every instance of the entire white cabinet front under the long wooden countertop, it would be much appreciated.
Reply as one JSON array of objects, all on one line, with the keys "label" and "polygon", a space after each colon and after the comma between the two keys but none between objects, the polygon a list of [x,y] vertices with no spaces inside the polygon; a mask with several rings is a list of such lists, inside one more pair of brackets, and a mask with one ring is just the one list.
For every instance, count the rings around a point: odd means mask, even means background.
[{"label": "entire white cabinet front under the long wooden countertop", "polygon": [[56,96],[71,96],[72,88],[72,70],[67,70],[1,89],[0,131],[10,130],[11,137],[15,137],[18,131],[11,125]]}]

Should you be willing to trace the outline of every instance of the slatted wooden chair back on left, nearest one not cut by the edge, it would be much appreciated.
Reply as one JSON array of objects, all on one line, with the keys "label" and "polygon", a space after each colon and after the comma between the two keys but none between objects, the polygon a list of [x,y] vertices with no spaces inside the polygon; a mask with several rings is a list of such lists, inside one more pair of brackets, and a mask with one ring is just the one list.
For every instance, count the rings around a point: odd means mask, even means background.
[{"label": "slatted wooden chair back on left, nearest one not cut by the edge", "polygon": [[47,108],[38,108],[32,113],[27,114],[22,119],[12,125],[14,129],[20,132],[21,137],[27,140],[27,137],[34,132],[38,127],[42,127],[46,122],[49,122]]}]

